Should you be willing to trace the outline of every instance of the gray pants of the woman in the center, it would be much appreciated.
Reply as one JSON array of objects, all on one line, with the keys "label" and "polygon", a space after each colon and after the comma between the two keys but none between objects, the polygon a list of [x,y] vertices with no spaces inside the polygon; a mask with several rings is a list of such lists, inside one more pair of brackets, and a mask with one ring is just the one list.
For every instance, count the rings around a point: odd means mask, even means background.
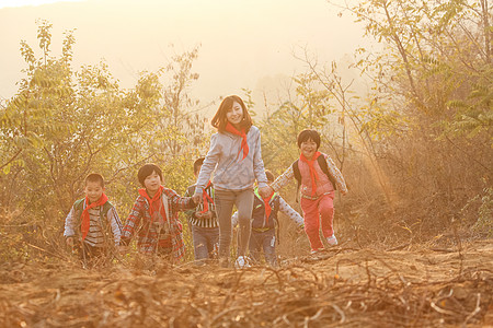
[{"label": "gray pants of the woman in the center", "polygon": [[246,255],[249,247],[251,218],[253,210],[253,189],[242,191],[216,190],[215,200],[219,223],[219,258],[229,258],[232,236],[231,215],[233,206],[238,209],[238,256]]}]

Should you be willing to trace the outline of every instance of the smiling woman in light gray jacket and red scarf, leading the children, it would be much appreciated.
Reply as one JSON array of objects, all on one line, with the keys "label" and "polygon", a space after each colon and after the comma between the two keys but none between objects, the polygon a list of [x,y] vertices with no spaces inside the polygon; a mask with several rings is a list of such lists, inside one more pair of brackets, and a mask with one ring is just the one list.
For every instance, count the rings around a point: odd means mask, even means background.
[{"label": "smiling woman in light gray jacket and red scarf, leading the children", "polygon": [[214,173],[216,212],[219,223],[219,261],[228,266],[231,244],[231,213],[236,204],[240,225],[236,266],[248,266],[250,218],[253,207],[253,185],[268,196],[267,178],[261,154],[260,130],[252,124],[246,106],[236,95],[226,97],[211,121],[218,132],[210,139],[210,148],[198,174],[194,199],[200,202],[203,191]]}]

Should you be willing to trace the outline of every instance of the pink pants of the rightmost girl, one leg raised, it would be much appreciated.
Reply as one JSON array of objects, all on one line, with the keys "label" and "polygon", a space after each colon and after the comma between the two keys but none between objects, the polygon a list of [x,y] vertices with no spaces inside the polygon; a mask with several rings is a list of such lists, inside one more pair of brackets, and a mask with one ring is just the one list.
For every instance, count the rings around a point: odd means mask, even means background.
[{"label": "pink pants of the rightmost girl, one leg raised", "polygon": [[[334,191],[311,200],[301,197],[301,210],[303,211],[305,232],[312,250],[323,248],[320,239],[320,221],[322,222],[322,235],[326,238],[332,236],[332,221],[334,219]],[[319,220],[320,219],[320,220]]]}]

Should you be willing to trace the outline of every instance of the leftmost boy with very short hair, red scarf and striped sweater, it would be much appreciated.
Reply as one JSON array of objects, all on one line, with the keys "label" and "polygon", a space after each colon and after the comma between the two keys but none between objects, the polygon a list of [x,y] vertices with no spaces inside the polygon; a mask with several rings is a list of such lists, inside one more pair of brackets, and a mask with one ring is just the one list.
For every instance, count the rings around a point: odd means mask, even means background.
[{"label": "leftmost boy with very short hair, red scarf and striped sweater", "polygon": [[[65,219],[66,243],[74,248],[80,247],[83,259],[102,255],[114,243],[119,244],[122,222],[115,207],[104,195],[103,176],[91,173],[85,177],[85,198],[77,200]],[[113,241],[108,232],[113,232]],[[74,245],[78,242],[80,244]]]}]

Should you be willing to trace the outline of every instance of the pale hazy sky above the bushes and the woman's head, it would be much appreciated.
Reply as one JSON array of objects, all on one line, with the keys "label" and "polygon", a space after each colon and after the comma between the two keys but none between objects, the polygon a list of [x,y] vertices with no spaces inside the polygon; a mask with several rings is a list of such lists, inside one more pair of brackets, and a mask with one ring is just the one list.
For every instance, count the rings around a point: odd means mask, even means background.
[{"label": "pale hazy sky above the bushes and the woman's head", "polygon": [[[0,0],[0,97],[15,94],[25,63],[21,39],[39,54],[36,19],[53,25],[54,55],[62,32],[74,32],[76,68],[104,59],[122,87],[144,70],[156,71],[174,54],[200,45],[192,94],[208,103],[220,95],[257,91],[265,81],[303,71],[293,51],[307,47],[330,63],[363,45],[362,28],[324,0]],[[46,2],[46,1],[45,1]],[[174,47],[171,48],[170,45]]]}]

